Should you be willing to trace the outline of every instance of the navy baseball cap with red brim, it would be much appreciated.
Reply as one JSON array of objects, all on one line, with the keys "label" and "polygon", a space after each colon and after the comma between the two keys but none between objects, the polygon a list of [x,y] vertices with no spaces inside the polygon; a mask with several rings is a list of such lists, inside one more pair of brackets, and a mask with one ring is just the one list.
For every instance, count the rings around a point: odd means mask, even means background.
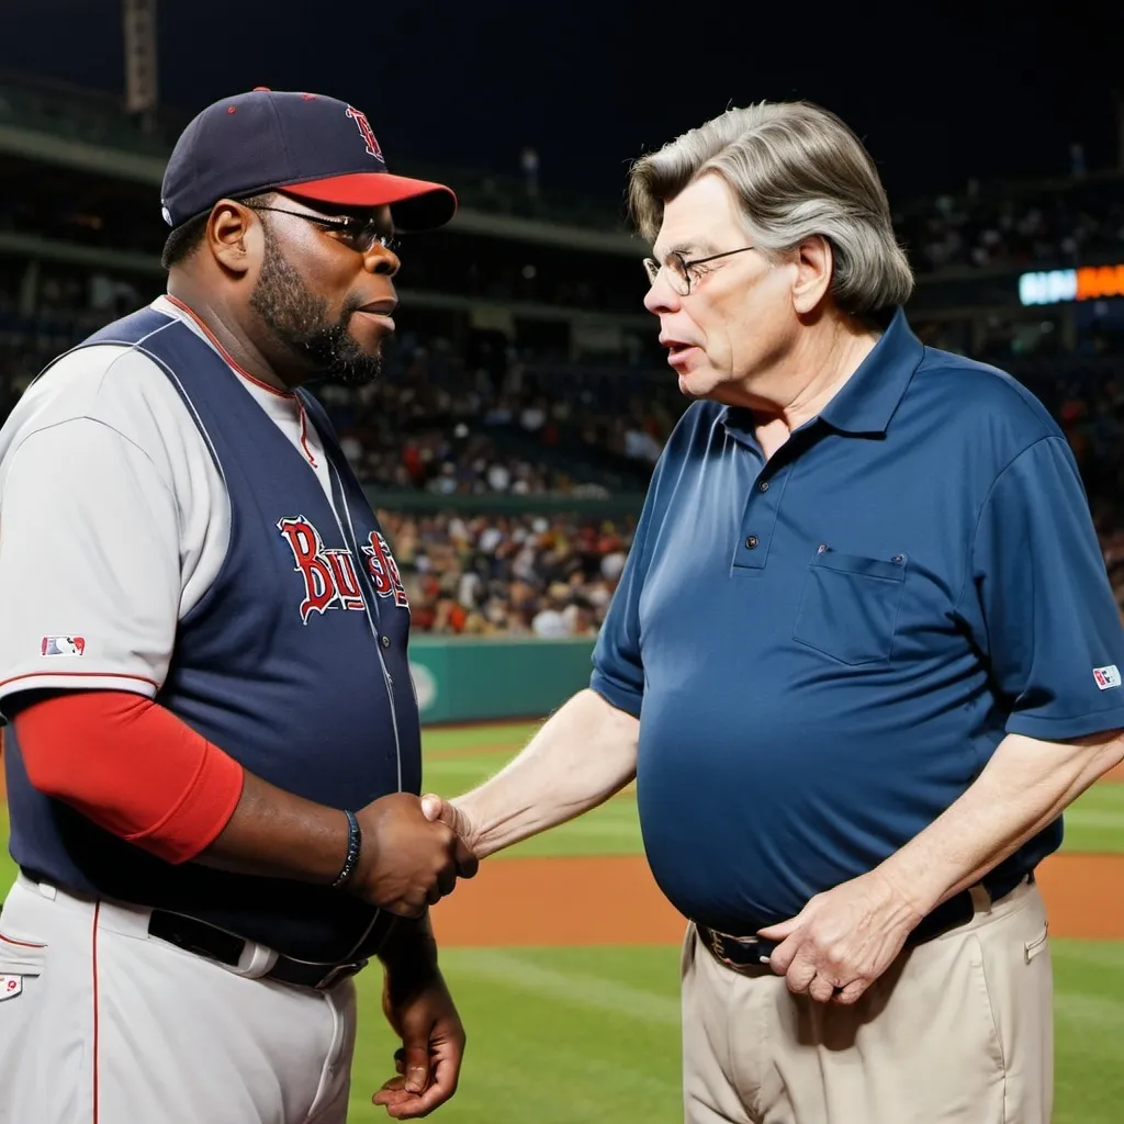
[{"label": "navy baseball cap with red brim", "polygon": [[319,93],[250,93],[208,106],[180,134],[161,188],[171,227],[219,199],[283,190],[309,203],[390,206],[395,226],[430,230],[456,212],[441,183],[391,175],[366,115]]}]

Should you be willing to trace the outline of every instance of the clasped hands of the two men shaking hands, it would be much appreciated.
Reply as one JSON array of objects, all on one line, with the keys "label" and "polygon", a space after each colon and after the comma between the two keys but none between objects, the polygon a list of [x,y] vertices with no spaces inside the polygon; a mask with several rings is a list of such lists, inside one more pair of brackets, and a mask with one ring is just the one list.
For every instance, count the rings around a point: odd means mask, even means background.
[{"label": "clasped hands of the two men shaking hands", "polygon": [[356,897],[389,913],[420,917],[472,878],[479,862],[457,828],[461,817],[436,796],[393,792],[355,813],[363,833],[359,863],[347,881]]}]

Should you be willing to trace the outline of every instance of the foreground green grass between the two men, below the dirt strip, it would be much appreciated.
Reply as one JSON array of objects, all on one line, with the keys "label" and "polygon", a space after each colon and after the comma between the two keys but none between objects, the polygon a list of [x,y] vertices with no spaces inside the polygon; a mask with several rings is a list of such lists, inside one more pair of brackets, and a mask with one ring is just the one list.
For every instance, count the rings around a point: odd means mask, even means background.
[{"label": "foreground green grass between the two men, below the dirt strip", "polygon": [[[679,1093],[678,951],[448,949],[445,976],[469,1035],[451,1124],[673,1124]],[[397,1044],[363,973],[351,1124],[386,1121],[371,1094]]]}]

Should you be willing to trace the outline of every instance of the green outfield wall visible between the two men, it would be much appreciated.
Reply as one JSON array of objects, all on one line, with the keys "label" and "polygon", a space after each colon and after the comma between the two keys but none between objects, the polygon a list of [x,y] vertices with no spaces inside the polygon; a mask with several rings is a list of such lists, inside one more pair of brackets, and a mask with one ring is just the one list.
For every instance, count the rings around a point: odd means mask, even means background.
[{"label": "green outfield wall visible between the two men", "polygon": [[593,641],[410,637],[422,724],[542,718],[589,686]]}]

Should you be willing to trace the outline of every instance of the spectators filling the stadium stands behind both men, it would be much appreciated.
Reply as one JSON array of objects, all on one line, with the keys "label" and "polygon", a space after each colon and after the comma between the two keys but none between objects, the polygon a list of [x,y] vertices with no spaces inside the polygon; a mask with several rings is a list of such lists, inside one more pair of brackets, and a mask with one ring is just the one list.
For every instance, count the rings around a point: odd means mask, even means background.
[{"label": "spectators filling the stadium stands behind both men", "polygon": [[[969,192],[901,217],[900,235],[921,272],[1124,250],[1124,202],[1090,192],[1043,189],[999,201]],[[158,291],[155,277],[124,281],[63,266],[42,265],[33,280],[26,262],[0,257],[0,417],[52,357]],[[997,318],[975,341],[951,321],[918,330],[935,346],[1007,366],[1059,419],[1124,613],[1124,357],[1113,357],[1124,348],[1118,335],[1094,329],[1076,354],[1066,352],[1045,327],[1027,335],[1021,321]],[[357,474],[387,507],[415,627],[596,633],[632,522],[554,514],[556,498],[580,513],[586,500],[643,491],[686,405],[674,380],[636,355],[574,364],[506,341],[464,347],[409,330],[388,348],[386,366],[371,386],[326,383],[316,392]],[[447,497],[450,509],[411,514],[406,499],[418,492],[430,506]],[[536,510],[538,496],[552,501]],[[468,514],[475,500],[477,514]],[[482,514],[498,500],[510,514]]]}]

